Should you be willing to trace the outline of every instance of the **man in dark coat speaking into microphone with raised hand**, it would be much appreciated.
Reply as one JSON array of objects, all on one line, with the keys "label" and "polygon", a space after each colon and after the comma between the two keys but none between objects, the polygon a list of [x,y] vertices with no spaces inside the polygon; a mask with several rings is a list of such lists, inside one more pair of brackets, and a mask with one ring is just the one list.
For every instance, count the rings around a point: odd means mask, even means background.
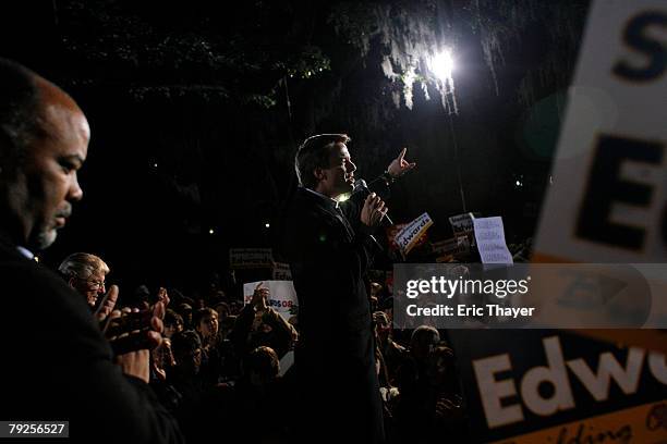
[{"label": "man in dark coat speaking into microphone with raised hand", "polygon": [[[289,206],[283,254],[299,298],[301,441],[381,443],[385,440],[373,325],[363,281],[371,236],[387,213],[375,194],[354,193],[356,166],[344,134],[307,138],[296,152],[300,187]],[[384,174],[412,170],[405,149]]]}]

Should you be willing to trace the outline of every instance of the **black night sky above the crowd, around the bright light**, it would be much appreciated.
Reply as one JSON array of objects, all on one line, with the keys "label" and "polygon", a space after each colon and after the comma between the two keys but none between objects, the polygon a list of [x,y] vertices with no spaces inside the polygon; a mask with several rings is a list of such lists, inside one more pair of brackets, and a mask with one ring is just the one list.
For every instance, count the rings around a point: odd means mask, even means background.
[{"label": "black night sky above the crowd, around the bright light", "polygon": [[[365,177],[409,148],[419,169],[396,185],[389,206],[401,222],[427,211],[436,222],[432,239],[449,237],[447,218],[462,210],[456,138],[468,210],[502,215],[509,239],[532,235],[586,1],[519,2],[531,8],[522,28],[501,41],[498,94],[480,27],[456,21],[472,2],[435,2],[457,36],[459,115],[451,118],[433,89],[426,101],[416,85],[413,109],[393,108],[396,85],[383,75],[377,39],[362,58],[349,36],[332,29],[330,14],[341,2],[245,2],[223,12],[199,1],[187,9],[134,3],[2,7],[0,54],[62,85],[93,132],[81,173],[85,198],[47,262],[85,250],[133,282],[197,285],[192,281],[225,269],[230,246],[270,245],[264,224],[294,185],[299,141],[331,132],[352,136]],[[508,2],[481,3],[485,26],[512,26],[494,9]],[[574,41],[555,42],[555,29],[566,25]],[[307,48],[319,52],[311,57]],[[521,82],[537,78],[548,55],[560,61],[557,73],[534,82],[532,102],[521,103]],[[320,59],[330,70],[289,77]],[[262,104],[266,97],[274,106]]]}]

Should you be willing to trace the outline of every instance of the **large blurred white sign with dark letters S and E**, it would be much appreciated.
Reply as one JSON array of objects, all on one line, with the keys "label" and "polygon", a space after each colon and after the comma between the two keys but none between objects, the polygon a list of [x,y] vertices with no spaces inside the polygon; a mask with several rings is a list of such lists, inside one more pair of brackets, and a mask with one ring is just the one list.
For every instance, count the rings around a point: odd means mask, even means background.
[{"label": "large blurred white sign with dark letters S and E", "polygon": [[[667,2],[591,4],[534,261],[647,263],[667,297]],[[662,271],[654,272],[662,264]],[[660,268],[660,267],[657,267]],[[638,269],[640,269],[638,267]],[[667,319],[654,306],[651,317]],[[585,334],[667,350],[659,331]]]}]

